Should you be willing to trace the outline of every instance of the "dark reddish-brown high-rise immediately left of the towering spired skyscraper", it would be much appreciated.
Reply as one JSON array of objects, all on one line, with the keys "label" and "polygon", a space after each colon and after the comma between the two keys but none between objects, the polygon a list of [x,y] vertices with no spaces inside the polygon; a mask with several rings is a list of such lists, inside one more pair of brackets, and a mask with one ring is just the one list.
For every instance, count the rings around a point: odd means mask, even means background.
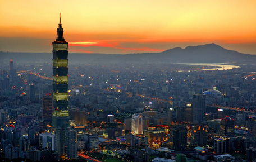
[{"label": "dark reddish-brown high-rise immediately left of the towering spired skyscraper", "polygon": [[43,97],[42,98],[42,117],[45,121],[52,120],[52,97]]}]

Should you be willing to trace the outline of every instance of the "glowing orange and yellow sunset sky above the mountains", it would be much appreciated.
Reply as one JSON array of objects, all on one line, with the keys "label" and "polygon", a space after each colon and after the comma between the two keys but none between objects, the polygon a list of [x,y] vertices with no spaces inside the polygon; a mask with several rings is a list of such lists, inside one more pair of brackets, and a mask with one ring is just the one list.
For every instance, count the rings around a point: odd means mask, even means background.
[{"label": "glowing orange and yellow sunset sky above the mountains", "polygon": [[0,0],[0,51],[49,52],[59,13],[70,53],[143,53],[214,42],[256,54],[256,1]]}]

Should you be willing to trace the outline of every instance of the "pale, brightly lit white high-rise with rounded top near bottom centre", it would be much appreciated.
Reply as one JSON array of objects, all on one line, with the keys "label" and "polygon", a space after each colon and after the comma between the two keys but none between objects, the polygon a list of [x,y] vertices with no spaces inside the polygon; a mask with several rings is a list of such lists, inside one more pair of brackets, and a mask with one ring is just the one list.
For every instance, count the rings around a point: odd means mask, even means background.
[{"label": "pale, brightly lit white high-rise with rounded top near bottom centre", "polygon": [[131,118],[131,132],[132,134],[143,134],[143,122],[142,116],[139,113],[135,113]]}]

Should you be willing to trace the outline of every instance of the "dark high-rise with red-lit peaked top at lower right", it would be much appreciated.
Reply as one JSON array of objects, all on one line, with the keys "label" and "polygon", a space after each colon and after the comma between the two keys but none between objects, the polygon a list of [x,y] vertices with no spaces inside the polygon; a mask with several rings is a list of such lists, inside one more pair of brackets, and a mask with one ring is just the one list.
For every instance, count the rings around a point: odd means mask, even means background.
[{"label": "dark high-rise with red-lit peaked top at lower right", "polygon": [[235,135],[234,119],[232,120],[230,117],[226,116],[221,120],[220,134],[222,136],[234,137]]}]

